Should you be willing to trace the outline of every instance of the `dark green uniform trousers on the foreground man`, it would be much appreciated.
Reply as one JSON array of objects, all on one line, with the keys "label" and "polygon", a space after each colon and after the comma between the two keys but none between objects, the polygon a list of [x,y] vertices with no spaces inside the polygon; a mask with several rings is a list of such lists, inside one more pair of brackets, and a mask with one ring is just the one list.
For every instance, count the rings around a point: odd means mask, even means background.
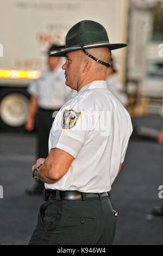
[{"label": "dark green uniform trousers on the foreground man", "polygon": [[112,245],[116,218],[109,198],[47,200],[29,245]]}]

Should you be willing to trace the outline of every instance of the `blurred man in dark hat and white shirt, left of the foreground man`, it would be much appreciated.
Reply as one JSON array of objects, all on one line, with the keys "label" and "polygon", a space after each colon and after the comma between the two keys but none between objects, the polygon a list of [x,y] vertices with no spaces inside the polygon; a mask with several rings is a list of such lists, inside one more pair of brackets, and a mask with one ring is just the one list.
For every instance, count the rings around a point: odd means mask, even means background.
[{"label": "blurred man in dark hat and white shirt, left of the foreground man", "polygon": [[[59,51],[64,46],[53,44],[47,54],[51,51]],[[59,109],[67,101],[67,96],[72,91],[65,86],[64,70],[61,69],[60,57],[47,57],[47,70],[41,72],[41,76],[30,83],[28,93],[31,95],[29,112],[25,127],[28,131],[36,128],[37,154],[36,159],[48,155],[48,137],[51,130],[54,111]],[[71,96],[69,95],[71,98]],[[35,120],[35,122],[34,122]],[[40,194],[44,188],[42,182],[30,186],[27,194]]]}]

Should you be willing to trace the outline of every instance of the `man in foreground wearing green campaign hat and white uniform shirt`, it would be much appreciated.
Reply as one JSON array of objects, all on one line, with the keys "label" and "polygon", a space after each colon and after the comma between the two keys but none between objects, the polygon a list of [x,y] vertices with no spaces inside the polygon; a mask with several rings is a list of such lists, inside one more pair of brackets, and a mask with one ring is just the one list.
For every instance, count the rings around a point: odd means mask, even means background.
[{"label": "man in foreground wearing green campaign hat and white uniform shirt", "polygon": [[116,218],[109,191],[132,132],[126,109],[109,92],[111,51],[105,28],[81,21],[66,35],[66,85],[78,94],[59,111],[49,135],[49,155],[32,167],[45,182],[38,222],[29,245],[112,245]]}]

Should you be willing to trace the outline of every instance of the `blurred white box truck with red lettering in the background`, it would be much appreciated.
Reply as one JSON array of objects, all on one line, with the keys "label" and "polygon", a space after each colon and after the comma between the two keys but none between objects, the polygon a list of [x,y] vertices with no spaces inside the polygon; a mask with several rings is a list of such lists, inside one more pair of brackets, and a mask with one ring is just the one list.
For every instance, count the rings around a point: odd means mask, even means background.
[{"label": "blurred white box truck with red lettering in the background", "polygon": [[[110,42],[126,42],[127,16],[128,0],[1,0],[0,128],[24,127],[26,88],[46,68],[49,45],[64,43],[68,30],[81,20],[101,23]],[[126,49],[115,54],[124,80]]]}]

